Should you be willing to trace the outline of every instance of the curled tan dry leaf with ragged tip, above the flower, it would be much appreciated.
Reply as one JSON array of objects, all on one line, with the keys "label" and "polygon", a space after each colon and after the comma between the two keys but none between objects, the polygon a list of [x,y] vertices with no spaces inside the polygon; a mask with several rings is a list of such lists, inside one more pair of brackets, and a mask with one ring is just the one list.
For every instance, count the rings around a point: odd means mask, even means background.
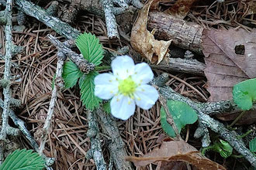
[{"label": "curled tan dry leaf with ragged tip, above the flower", "polygon": [[[158,0],[157,0],[158,1]],[[141,56],[149,59],[151,63],[160,63],[164,56],[168,54],[168,47],[171,44],[171,40],[156,40],[154,34],[147,30],[147,16],[149,8],[152,2],[156,0],[150,0],[140,10],[140,13],[133,25],[133,29],[130,36],[130,43]]]}]

